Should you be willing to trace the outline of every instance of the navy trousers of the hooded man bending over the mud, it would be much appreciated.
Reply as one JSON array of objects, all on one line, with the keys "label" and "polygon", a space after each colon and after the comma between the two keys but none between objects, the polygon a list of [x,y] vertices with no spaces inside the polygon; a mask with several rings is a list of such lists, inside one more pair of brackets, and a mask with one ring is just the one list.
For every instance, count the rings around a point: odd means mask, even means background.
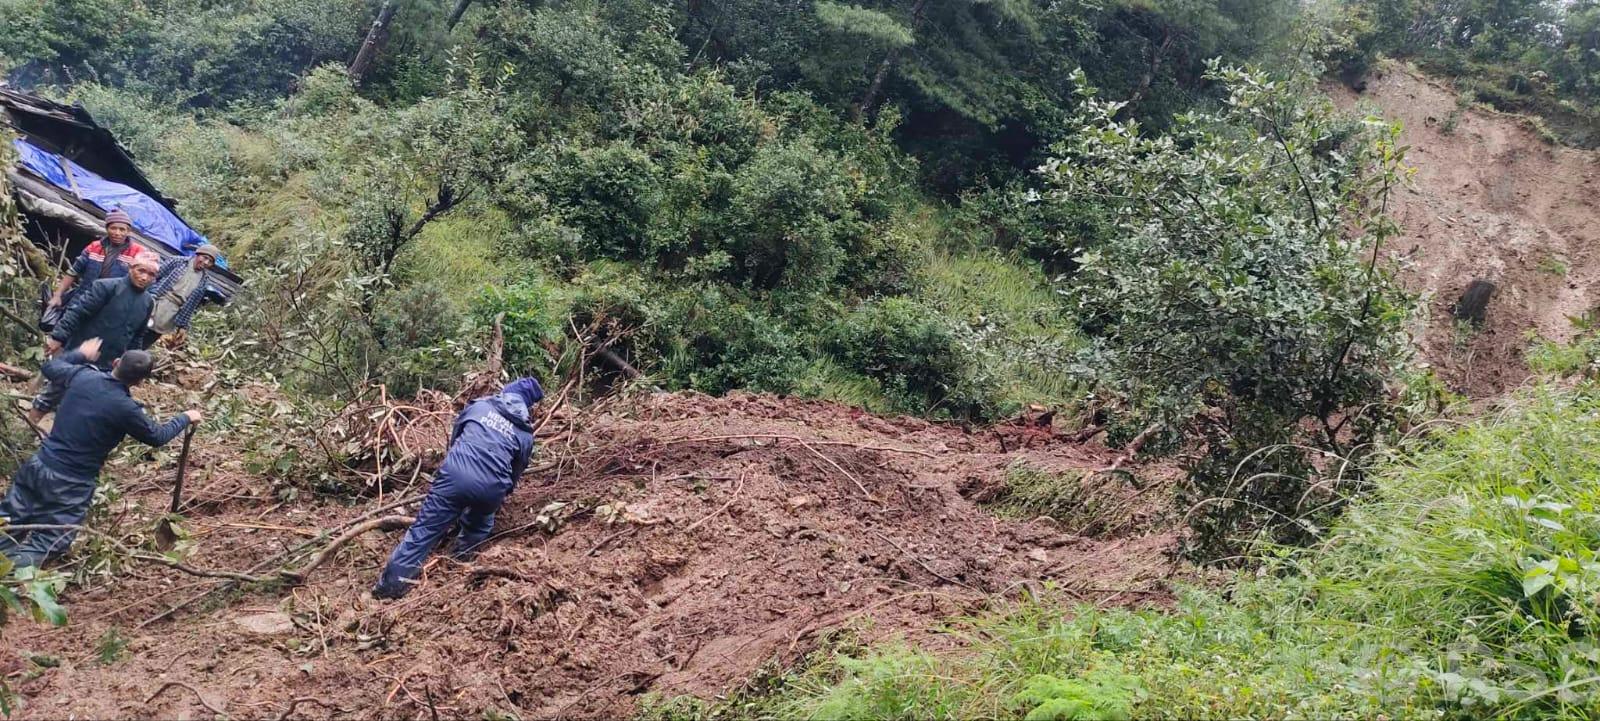
[{"label": "navy trousers of the hooded man bending over the mud", "polygon": [[461,481],[440,473],[427,489],[422,508],[416,512],[416,521],[389,555],[389,564],[378,577],[373,595],[400,598],[410,593],[418,572],[422,571],[422,561],[451,526],[461,528],[451,555],[462,561],[472,560],[494,529],[494,513],[502,502],[506,502],[506,486],[499,483]]}]

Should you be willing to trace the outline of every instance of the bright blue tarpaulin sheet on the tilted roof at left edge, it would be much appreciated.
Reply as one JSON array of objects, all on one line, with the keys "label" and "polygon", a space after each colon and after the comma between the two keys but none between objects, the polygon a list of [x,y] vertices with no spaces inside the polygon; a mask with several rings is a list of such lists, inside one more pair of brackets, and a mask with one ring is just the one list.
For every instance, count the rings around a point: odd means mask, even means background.
[{"label": "bright blue tarpaulin sheet on the tilted roof at left edge", "polygon": [[[139,230],[139,235],[171,248],[173,253],[192,256],[195,248],[206,241],[205,235],[197,233],[155,198],[120,182],[107,181],[82,165],[27,141],[18,139],[13,144],[24,168],[102,211],[110,213],[122,208],[133,219],[133,227]],[[226,269],[227,262],[218,259],[218,265]]]}]

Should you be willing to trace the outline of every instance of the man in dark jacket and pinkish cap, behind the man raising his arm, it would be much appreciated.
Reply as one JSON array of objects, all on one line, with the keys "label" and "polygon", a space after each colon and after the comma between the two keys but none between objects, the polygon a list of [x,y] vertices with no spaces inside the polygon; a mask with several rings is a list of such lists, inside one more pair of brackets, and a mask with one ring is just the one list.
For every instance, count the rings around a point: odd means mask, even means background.
[{"label": "man in dark jacket and pinkish cap, behind the man raising his arm", "polygon": [[[146,288],[155,280],[155,254],[150,253],[133,261],[126,278],[90,283],[67,307],[56,329],[50,331],[50,337],[45,339],[45,357],[98,337],[104,345],[96,366],[109,371],[125,350],[144,339],[144,326],[150,318],[150,294]],[[27,411],[29,420],[37,425],[45,414],[56,409],[64,392],[64,385],[46,380],[45,390],[34,398],[34,408]]]}]

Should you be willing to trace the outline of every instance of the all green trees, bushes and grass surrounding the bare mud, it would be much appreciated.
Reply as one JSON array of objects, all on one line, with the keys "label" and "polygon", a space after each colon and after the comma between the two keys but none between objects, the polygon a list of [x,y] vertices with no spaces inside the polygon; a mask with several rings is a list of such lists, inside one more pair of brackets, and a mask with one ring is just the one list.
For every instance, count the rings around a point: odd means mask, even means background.
[{"label": "all green trees, bushes and grass surrounding the bare mud", "polygon": [[[347,69],[382,8],[374,62]],[[253,470],[328,478],[339,451],[304,438],[338,404],[448,388],[498,326],[510,369],[579,396],[642,374],[974,422],[1067,408],[1130,451],[1187,451],[1192,558],[1261,569],[1176,612],[1040,598],[966,622],[954,657],[843,647],[699,713],[1582,716],[1594,395],[1394,449],[1410,299],[1373,251],[1405,150],[1317,82],[1411,56],[1589,142],[1597,18],[0,0],[0,58],[110,126],[246,275],[194,352],[299,404],[219,414]],[[37,269],[6,257],[16,358]],[[0,592],[46,614],[46,580]]]}]

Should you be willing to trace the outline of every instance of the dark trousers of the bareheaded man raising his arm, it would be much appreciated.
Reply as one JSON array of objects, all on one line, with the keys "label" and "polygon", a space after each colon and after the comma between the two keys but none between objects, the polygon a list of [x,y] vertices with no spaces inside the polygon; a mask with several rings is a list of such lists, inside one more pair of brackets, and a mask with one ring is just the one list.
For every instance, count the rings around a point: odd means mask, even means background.
[{"label": "dark trousers of the bareheaded man raising his arm", "polygon": [[77,531],[18,531],[6,526],[51,524],[80,526],[94,502],[94,480],[56,473],[38,460],[27,459],[11,476],[11,489],[0,500],[0,553],[21,566],[43,566],[46,560],[72,548]]}]

